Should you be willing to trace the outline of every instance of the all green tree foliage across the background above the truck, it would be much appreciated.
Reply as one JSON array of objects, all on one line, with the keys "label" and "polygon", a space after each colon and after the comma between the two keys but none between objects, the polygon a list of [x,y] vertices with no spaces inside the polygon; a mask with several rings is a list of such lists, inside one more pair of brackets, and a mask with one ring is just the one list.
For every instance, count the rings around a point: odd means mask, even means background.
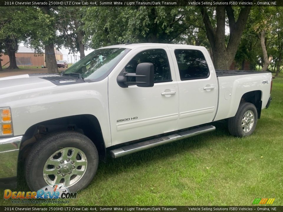
[{"label": "all green tree foliage across the background above the truck", "polygon": [[[235,18],[242,7],[233,7]],[[217,29],[215,7],[206,7],[211,26]],[[283,65],[283,16],[279,7],[252,7],[235,56],[238,67],[249,61],[262,65],[260,30],[266,30],[271,68]],[[237,20],[235,20],[237,21]],[[226,26],[229,26],[226,14]],[[37,52],[44,45],[64,45],[71,53],[126,42],[160,42],[201,45],[210,49],[203,16],[198,7],[1,7],[0,53],[6,37],[24,41]],[[230,34],[225,34],[228,46]]]}]

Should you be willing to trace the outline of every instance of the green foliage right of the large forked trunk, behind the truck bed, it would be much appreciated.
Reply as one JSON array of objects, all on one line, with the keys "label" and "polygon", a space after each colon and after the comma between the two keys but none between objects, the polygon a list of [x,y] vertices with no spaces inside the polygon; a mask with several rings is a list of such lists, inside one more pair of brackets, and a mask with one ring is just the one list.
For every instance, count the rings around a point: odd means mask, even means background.
[{"label": "green foliage right of the large forked trunk, behind the truck bed", "polygon": [[265,30],[265,43],[268,55],[273,56],[271,68],[283,64],[283,14],[278,7],[252,7],[246,29],[236,53],[235,61],[241,64],[249,61],[251,69],[263,65],[263,53],[260,45],[259,33]]}]

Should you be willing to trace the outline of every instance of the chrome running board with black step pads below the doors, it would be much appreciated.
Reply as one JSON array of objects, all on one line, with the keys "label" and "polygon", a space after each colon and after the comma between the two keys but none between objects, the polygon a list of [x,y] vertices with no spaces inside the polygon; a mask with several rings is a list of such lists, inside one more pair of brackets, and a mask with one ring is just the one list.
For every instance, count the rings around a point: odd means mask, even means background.
[{"label": "chrome running board with black step pads below the doors", "polygon": [[124,155],[129,155],[131,153],[139,152],[141,150],[149,149],[152,147],[156,147],[162,144],[170,143],[176,140],[181,140],[184,138],[189,138],[195,135],[200,135],[205,132],[210,132],[215,130],[215,127],[212,125],[199,127],[192,130],[187,130],[185,132],[178,132],[172,135],[167,135],[161,138],[154,138],[152,140],[142,141],[140,143],[131,144],[128,146],[124,146],[118,149],[111,150],[111,157],[112,158],[119,158]]}]

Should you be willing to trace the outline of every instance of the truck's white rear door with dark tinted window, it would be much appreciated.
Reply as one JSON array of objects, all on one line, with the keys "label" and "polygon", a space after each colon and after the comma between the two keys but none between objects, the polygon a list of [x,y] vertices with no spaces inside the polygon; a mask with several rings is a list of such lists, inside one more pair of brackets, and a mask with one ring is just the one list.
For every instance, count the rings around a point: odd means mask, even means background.
[{"label": "truck's white rear door with dark tinted window", "polygon": [[172,48],[179,89],[177,129],[211,122],[217,110],[217,79],[210,57],[202,47]]}]

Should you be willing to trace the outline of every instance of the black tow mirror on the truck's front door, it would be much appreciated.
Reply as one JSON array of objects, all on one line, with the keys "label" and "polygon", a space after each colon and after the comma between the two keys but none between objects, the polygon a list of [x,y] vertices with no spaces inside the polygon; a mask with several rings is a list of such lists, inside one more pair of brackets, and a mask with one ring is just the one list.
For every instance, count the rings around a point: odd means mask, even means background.
[{"label": "black tow mirror on the truck's front door", "polygon": [[[129,77],[136,77],[136,82],[129,82]],[[128,85],[153,87],[154,66],[152,63],[140,63],[136,67],[136,73],[122,72],[117,77],[117,82],[120,87],[128,87]]]}]

